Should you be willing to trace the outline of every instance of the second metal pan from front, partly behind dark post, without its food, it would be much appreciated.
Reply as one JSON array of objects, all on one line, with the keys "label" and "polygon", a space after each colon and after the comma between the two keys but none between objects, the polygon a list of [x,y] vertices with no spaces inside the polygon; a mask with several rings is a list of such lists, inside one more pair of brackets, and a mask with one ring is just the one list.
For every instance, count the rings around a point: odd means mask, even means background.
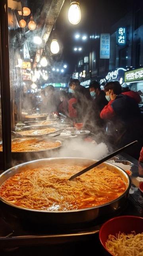
[{"label": "second metal pan from front, partly behind dark post, without its food", "polygon": [[[59,150],[62,146],[62,142],[60,140],[54,140],[52,138],[39,138],[39,137],[31,137],[31,138],[15,138],[12,139],[12,142],[26,142],[26,140],[42,140],[42,141],[49,141],[49,142],[59,142],[60,146],[57,146],[55,148],[49,148],[46,150],[40,150],[40,151],[29,151],[29,152],[12,152],[12,160],[16,163],[20,163],[21,161],[29,161],[29,160],[37,160],[39,158],[48,158],[51,157],[53,152],[56,150]],[[2,145],[2,141],[0,142],[0,145]],[[0,152],[0,158],[2,157],[3,152]],[[14,165],[14,164],[13,164]]]}]

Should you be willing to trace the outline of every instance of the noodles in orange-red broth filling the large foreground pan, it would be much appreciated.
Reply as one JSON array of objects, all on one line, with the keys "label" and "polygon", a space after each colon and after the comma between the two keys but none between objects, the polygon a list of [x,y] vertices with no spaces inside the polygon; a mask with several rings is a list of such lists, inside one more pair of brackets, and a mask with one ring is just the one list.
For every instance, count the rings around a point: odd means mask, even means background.
[{"label": "noodles in orange-red broth filling the large foreground pan", "polygon": [[120,174],[106,166],[95,167],[69,181],[85,167],[56,163],[22,171],[2,184],[0,196],[19,207],[68,211],[102,205],[126,190]]}]

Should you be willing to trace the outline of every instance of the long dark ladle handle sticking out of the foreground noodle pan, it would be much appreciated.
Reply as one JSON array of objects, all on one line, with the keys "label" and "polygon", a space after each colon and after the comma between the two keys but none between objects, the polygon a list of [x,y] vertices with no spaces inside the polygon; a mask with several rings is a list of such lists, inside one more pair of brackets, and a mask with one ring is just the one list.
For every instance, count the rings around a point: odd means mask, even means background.
[{"label": "long dark ladle handle sticking out of the foreground noodle pan", "polygon": [[135,141],[131,142],[130,144],[124,146],[123,148],[120,148],[119,150],[114,151],[112,154],[106,156],[105,158],[102,158],[101,160],[97,161],[96,163],[93,163],[92,165],[86,167],[86,168],[83,169],[82,171],[77,172],[76,174],[74,174],[73,176],[71,176],[69,180],[71,181],[72,179],[75,179],[76,177],[80,176],[81,174],[83,174],[83,173],[85,173],[85,172],[87,172],[87,171],[93,169],[93,168],[96,167],[97,165],[103,163],[104,161],[109,160],[109,159],[112,158],[113,156],[116,156],[118,153],[120,153],[121,151],[125,150],[126,148],[129,148],[130,146],[136,144],[137,142],[138,142],[138,141],[135,140]]}]

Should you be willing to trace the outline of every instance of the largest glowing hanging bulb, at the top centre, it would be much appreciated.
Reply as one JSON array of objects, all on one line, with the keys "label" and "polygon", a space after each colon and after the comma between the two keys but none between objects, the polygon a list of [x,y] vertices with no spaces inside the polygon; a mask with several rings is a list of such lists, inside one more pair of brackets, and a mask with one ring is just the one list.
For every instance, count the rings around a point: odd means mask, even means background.
[{"label": "largest glowing hanging bulb, at the top centre", "polygon": [[68,20],[73,25],[77,25],[81,20],[81,10],[78,2],[72,2],[68,11]]}]

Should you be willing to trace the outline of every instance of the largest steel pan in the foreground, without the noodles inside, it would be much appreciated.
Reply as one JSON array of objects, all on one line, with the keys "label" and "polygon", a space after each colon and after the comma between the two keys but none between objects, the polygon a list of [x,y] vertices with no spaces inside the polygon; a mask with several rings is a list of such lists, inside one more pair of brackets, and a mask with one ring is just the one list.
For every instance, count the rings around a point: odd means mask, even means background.
[{"label": "largest steel pan in the foreground, without the noodles inside", "polygon": [[[0,175],[0,186],[8,178],[12,177],[16,173],[20,173],[23,170],[33,169],[35,167],[44,167],[51,163],[90,165],[94,162],[95,160],[89,160],[85,158],[48,158],[48,159],[41,159],[41,160],[23,163],[21,165],[17,165],[5,171],[4,173],[2,173]],[[15,205],[12,205],[11,203],[8,203],[6,200],[2,198],[0,198],[0,200],[4,204],[4,207],[5,207],[4,209],[6,209],[6,211],[11,211],[12,214],[37,224],[48,224],[48,225],[72,224],[74,226],[75,224],[83,224],[87,222],[89,223],[91,221],[95,221],[95,223],[98,224],[101,221],[101,219],[116,215],[126,205],[129,189],[131,186],[130,177],[124,170],[122,170],[120,167],[112,165],[111,163],[104,163],[103,165],[108,166],[108,169],[112,169],[117,173],[120,173],[120,175],[122,176],[122,178],[126,183],[126,191],[117,199],[109,203],[106,203],[104,205],[100,205],[92,208],[74,210],[74,211],[39,211],[39,210],[32,210],[32,209],[17,207]]]}]

